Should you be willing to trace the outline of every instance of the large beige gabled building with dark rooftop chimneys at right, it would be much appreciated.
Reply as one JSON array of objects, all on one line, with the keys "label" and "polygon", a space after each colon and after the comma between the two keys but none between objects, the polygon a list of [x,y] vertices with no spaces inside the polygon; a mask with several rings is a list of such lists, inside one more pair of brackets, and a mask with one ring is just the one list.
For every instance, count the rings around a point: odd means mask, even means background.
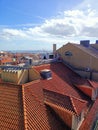
[{"label": "large beige gabled building with dark rooftop chimneys at right", "polygon": [[57,53],[82,77],[98,81],[98,44],[90,44],[89,41],[68,43]]}]

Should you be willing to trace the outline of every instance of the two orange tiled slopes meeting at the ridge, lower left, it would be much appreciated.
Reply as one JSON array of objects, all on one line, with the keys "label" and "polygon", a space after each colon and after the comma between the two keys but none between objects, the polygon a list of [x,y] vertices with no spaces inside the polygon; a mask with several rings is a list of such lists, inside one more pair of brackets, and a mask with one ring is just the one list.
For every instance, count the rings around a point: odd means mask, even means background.
[{"label": "two orange tiled slopes meeting at the ridge, lower left", "polygon": [[68,130],[44,105],[38,81],[23,86],[0,84],[0,129]]}]

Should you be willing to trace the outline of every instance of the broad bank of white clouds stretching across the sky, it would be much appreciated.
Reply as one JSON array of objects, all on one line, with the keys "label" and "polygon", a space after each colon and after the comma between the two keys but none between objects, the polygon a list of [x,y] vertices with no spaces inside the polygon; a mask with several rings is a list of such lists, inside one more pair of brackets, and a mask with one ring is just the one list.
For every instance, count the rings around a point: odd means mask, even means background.
[{"label": "broad bank of white clouds stretching across the sky", "polygon": [[43,24],[34,27],[25,25],[25,29],[3,27],[0,39],[29,39],[46,43],[64,43],[64,41],[83,37],[96,38],[98,37],[98,9],[93,8],[94,2],[97,0],[85,0],[73,10],[60,12],[59,16],[47,19]]}]

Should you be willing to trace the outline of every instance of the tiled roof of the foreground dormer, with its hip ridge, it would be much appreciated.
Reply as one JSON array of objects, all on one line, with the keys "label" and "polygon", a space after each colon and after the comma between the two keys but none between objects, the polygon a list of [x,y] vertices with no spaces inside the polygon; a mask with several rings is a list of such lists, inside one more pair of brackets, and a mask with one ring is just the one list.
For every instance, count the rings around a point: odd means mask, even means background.
[{"label": "tiled roof of the foreground dormer, with its hip ridge", "polygon": [[[44,89],[45,101],[56,104],[62,108],[69,110],[72,114],[79,115],[86,106],[86,101],[78,98],[62,95],[50,90]],[[78,107],[79,106],[79,107]]]}]

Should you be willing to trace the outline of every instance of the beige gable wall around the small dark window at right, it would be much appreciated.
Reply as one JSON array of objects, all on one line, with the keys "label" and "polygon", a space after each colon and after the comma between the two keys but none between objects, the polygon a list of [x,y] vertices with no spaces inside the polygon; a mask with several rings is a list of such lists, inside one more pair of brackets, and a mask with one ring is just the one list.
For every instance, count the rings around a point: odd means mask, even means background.
[{"label": "beige gable wall around the small dark window at right", "polygon": [[[72,52],[72,56],[65,56],[65,52]],[[98,71],[98,58],[90,55],[86,50],[82,50],[76,47],[74,44],[68,43],[62,48],[58,49],[57,52],[61,55],[64,61],[75,67],[91,68]]]}]

